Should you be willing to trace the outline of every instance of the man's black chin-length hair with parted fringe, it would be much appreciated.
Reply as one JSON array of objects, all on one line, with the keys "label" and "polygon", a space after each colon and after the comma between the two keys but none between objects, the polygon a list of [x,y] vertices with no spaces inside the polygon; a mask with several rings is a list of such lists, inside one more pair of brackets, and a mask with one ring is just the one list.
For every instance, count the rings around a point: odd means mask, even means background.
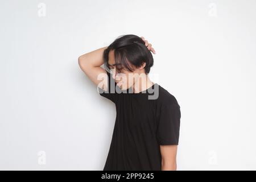
[{"label": "man's black chin-length hair with parted fringe", "polygon": [[137,35],[121,35],[104,50],[104,65],[108,72],[110,72],[108,60],[111,50],[114,50],[117,72],[120,72],[123,67],[133,72],[133,67],[138,68],[146,63],[144,70],[148,74],[154,64],[150,50],[145,46],[144,40]]}]

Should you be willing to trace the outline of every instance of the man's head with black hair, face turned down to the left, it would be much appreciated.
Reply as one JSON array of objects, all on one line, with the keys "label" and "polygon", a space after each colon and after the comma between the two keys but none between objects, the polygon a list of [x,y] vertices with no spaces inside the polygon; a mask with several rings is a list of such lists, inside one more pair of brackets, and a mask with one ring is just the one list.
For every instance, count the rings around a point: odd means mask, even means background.
[{"label": "man's head with black hair, face turned down to the left", "polygon": [[122,90],[130,88],[150,72],[154,60],[144,41],[136,35],[122,35],[104,51],[104,65]]}]

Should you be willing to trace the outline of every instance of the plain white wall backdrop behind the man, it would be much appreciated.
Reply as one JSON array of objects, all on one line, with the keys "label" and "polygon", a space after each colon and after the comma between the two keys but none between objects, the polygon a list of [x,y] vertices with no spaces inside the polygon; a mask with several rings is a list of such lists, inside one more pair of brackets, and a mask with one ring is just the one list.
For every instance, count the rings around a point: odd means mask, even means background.
[{"label": "plain white wall backdrop behind the man", "polygon": [[77,58],[119,35],[156,50],[180,104],[178,170],[256,169],[256,2],[1,1],[0,169],[102,170],[114,104]]}]

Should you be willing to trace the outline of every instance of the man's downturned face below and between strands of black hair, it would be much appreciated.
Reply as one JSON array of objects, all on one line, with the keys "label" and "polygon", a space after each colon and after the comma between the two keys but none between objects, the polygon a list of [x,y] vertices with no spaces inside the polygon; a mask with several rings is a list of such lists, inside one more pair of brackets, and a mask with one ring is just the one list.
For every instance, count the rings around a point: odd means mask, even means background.
[{"label": "man's downturned face below and between strands of black hair", "polygon": [[[121,71],[118,73],[115,65],[115,57],[114,57],[114,50],[109,51],[109,68],[112,71],[112,76],[119,86],[121,90],[127,90],[131,86],[133,86],[135,83],[139,83],[139,76],[141,73],[144,73],[144,66],[146,64],[143,64],[140,68],[135,68],[134,72],[130,72],[127,68],[121,66]],[[118,68],[119,68],[118,66]],[[134,67],[133,67],[134,68]],[[144,74],[142,74],[144,75]]]}]

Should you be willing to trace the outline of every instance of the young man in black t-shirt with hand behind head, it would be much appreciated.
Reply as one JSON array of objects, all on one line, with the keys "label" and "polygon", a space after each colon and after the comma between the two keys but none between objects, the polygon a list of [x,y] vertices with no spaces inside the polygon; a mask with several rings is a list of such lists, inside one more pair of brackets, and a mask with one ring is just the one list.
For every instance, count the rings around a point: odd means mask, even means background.
[{"label": "young man in black t-shirt with hand behind head", "polygon": [[79,57],[82,71],[117,111],[104,171],[176,170],[180,106],[148,77],[151,52],[143,37],[124,35]]}]

